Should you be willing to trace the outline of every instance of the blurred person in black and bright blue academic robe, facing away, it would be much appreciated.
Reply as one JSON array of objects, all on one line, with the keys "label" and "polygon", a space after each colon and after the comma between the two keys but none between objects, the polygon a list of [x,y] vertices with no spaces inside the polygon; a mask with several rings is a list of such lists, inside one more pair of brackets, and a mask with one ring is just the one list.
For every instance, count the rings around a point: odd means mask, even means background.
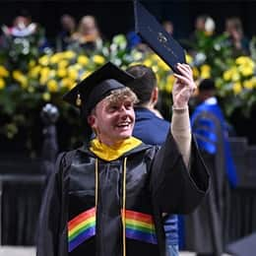
[{"label": "blurred person in black and bright blue academic robe, facing away", "polygon": [[215,81],[202,80],[196,98],[198,105],[191,115],[192,132],[212,182],[203,203],[184,218],[185,247],[198,256],[221,256],[228,238],[229,189],[236,186],[236,171]]}]

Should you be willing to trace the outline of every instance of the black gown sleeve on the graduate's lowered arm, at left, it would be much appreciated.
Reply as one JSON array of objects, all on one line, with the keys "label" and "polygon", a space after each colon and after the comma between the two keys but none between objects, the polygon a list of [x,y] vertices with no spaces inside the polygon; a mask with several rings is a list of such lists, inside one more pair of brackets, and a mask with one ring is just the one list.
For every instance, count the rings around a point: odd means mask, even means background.
[{"label": "black gown sleeve on the graduate's lowered arm, at left", "polygon": [[65,247],[63,242],[66,234],[63,222],[65,209],[63,201],[64,179],[63,159],[65,154],[59,155],[54,171],[47,180],[38,220],[36,256],[60,256],[59,248]]}]

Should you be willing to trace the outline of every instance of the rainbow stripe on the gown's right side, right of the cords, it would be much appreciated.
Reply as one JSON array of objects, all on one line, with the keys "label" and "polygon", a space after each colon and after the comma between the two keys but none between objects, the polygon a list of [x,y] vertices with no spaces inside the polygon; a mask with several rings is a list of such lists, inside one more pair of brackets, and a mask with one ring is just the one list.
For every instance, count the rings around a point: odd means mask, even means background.
[{"label": "rainbow stripe on the gown's right side, right of the cords", "polygon": [[153,217],[125,210],[125,233],[127,238],[157,244]]}]

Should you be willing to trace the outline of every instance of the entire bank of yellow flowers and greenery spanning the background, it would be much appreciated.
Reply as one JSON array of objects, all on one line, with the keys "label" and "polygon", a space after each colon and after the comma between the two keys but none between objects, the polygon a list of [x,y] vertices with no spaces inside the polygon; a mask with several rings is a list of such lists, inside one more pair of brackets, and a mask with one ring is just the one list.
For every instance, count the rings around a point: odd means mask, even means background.
[{"label": "entire bank of yellow flowers and greenery spanning the background", "polygon": [[[170,116],[174,77],[157,54],[128,50],[123,34],[114,36],[100,50],[90,54],[83,49],[54,52],[45,47],[39,50],[42,36],[43,32],[38,30],[18,40],[8,38],[8,46],[0,48],[0,134],[11,140],[21,129],[26,130],[27,146],[32,151],[32,126],[48,102],[59,108],[60,118],[65,119],[69,127],[80,126],[78,113],[63,102],[62,96],[106,61],[124,69],[136,63],[152,67],[160,87],[160,111],[164,117]],[[248,114],[256,101],[255,39],[251,56],[237,58],[232,57],[225,40],[224,35],[202,34],[200,43],[186,54],[187,63],[192,66],[196,80],[216,79],[226,115],[231,115],[235,108],[242,108],[244,114]],[[76,130],[68,145],[79,140]]]}]

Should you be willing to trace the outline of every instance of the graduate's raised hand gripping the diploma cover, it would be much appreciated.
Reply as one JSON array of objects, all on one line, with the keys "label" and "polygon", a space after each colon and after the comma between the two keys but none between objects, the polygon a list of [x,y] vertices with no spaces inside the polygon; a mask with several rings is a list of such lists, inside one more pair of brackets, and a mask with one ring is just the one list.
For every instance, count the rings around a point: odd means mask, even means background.
[{"label": "graduate's raised hand gripping the diploma cover", "polygon": [[180,74],[174,73],[176,81],[172,89],[172,99],[174,108],[185,108],[188,100],[196,90],[196,84],[193,80],[193,72],[187,64],[177,64]]}]

